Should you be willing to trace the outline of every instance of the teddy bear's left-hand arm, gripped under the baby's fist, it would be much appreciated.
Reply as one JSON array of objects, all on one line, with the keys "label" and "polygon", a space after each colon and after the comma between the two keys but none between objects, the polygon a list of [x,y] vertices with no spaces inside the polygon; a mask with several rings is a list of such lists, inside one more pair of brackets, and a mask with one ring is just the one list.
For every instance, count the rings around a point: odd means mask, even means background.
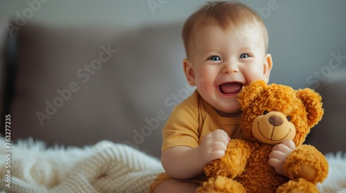
[{"label": "teddy bear's left-hand arm, gripped under the baby's fist", "polygon": [[227,176],[233,179],[242,174],[250,154],[250,143],[241,139],[232,139],[228,143],[225,155],[204,167],[206,176]]}]

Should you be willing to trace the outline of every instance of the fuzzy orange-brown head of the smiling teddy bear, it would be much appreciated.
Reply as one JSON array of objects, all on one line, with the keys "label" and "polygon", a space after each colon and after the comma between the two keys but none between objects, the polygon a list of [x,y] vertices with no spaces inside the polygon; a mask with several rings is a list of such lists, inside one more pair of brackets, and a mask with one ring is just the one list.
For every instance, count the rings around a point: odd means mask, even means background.
[{"label": "fuzzy orange-brown head of the smiling teddy bear", "polygon": [[292,139],[304,142],[310,128],[322,119],[321,96],[309,88],[253,81],[238,95],[244,139],[275,145]]}]

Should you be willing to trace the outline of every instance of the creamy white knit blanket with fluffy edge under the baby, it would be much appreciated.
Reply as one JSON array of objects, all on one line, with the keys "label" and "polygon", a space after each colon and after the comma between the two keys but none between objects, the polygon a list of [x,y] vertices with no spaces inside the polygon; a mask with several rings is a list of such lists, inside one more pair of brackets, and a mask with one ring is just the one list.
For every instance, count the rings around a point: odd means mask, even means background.
[{"label": "creamy white knit blanket with fluffy edge under the baby", "polygon": [[[6,146],[0,138],[0,152]],[[149,192],[163,172],[160,161],[127,145],[100,141],[85,148],[46,148],[31,139],[10,146],[8,159],[0,156],[3,192]],[[327,154],[329,174],[318,184],[320,192],[346,193],[346,154]]]}]

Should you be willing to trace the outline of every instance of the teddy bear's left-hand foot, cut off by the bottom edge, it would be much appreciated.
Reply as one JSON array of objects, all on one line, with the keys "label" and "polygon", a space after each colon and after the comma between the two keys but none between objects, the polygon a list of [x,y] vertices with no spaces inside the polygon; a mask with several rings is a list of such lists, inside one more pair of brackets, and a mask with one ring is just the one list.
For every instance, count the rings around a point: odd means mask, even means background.
[{"label": "teddy bear's left-hand foot, cut off by the bottom edge", "polygon": [[210,178],[208,181],[204,182],[202,187],[199,187],[197,193],[208,192],[208,193],[228,193],[228,192],[239,192],[246,193],[244,186],[234,181],[233,179],[228,179],[224,176],[217,176],[217,178]]}]

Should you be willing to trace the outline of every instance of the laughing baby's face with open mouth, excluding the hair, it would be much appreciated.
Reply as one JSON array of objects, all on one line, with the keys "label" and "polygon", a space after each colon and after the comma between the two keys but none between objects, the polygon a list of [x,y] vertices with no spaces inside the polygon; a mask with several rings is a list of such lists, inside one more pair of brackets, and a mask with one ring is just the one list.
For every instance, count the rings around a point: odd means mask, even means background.
[{"label": "laughing baby's face with open mouth, excluding the hair", "polygon": [[268,82],[272,64],[262,28],[246,33],[208,26],[198,30],[192,42],[185,61],[197,90],[219,114],[239,112],[237,94],[244,85],[257,79]]}]

